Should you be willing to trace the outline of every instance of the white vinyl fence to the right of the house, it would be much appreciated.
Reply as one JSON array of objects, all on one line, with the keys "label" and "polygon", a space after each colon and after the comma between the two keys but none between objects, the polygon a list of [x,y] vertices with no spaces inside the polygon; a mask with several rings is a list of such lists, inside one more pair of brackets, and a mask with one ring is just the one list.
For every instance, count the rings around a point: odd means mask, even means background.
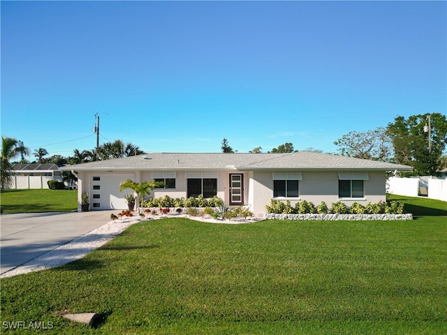
[{"label": "white vinyl fence to the right of the house", "polygon": [[417,197],[419,193],[427,191],[427,198],[447,201],[447,179],[390,177],[387,181],[387,191],[408,197]]}]

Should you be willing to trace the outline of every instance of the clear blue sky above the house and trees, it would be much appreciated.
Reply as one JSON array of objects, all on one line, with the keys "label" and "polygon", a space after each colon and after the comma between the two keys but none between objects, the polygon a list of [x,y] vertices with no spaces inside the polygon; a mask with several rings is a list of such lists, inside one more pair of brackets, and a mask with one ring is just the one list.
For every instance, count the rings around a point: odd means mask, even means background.
[{"label": "clear blue sky above the house and trees", "polygon": [[1,1],[1,135],[72,156],[98,113],[149,152],[337,152],[446,113],[446,31],[446,1]]}]

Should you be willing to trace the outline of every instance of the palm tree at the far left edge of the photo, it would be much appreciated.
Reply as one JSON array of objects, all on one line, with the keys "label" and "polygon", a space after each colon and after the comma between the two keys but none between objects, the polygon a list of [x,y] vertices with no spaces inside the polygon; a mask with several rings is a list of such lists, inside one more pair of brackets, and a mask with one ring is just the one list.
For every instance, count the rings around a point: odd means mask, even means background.
[{"label": "palm tree at the far left edge of the photo", "polygon": [[23,142],[15,140],[12,137],[1,137],[1,188],[9,186],[13,181],[13,165],[9,162],[14,158],[24,158],[29,155],[29,149],[23,145]]}]

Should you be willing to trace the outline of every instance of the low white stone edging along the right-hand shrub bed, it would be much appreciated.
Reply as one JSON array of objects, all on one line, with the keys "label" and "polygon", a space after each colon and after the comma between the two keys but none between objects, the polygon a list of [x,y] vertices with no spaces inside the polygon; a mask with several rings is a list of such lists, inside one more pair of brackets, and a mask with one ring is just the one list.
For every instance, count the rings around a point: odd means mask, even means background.
[{"label": "low white stone edging along the right-hand shrub bed", "polygon": [[413,220],[413,214],[274,214],[265,213],[265,219],[326,220],[326,221],[390,221]]}]

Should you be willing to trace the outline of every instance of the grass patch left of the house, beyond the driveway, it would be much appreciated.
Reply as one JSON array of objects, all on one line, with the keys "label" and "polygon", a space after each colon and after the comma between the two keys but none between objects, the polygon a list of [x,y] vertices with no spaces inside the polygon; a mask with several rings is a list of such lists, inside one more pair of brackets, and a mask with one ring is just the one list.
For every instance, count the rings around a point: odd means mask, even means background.
[{"label": "grass patch left of the house, beyond the driveway", "polygon": [[1,190],[0,201],[3,214],[73,211],[78,208],[78,191]]}]

